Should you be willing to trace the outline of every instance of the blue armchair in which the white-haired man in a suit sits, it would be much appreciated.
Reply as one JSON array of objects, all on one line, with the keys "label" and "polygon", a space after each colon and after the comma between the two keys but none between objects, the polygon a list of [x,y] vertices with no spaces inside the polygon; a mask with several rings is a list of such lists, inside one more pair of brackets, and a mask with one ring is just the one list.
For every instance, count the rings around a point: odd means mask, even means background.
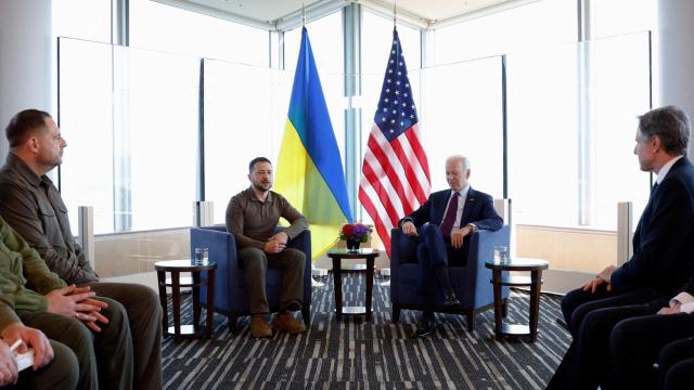
[{"label": "blue armchair in which the white-haired man in a suit sits", "polygon": [[[497,232],[478,231],[470,237],[470,253],[466,266],[449,266],[451,283],[455,296],[460,299],[462,310],[445,310],[440,303],[444,292],[436,291],[436,312],[465,314],[467,329],[475,326],[475,314],[487,309],[493,309],[493,288],[490,283],[491,270],[485,266],[485,261],[493,258],[497,245],[509,246],[509,225]],[[416,263],[417,242],[394,229],[390,235],[390,302],[393,304],[393,322],[398,323],[401,309],[423,310],[424,296],[417,288],[419,266]],[[502,289],[504,302],[509,297],[509,287]],[[505,304],[504,304],[505,308]]]}]

